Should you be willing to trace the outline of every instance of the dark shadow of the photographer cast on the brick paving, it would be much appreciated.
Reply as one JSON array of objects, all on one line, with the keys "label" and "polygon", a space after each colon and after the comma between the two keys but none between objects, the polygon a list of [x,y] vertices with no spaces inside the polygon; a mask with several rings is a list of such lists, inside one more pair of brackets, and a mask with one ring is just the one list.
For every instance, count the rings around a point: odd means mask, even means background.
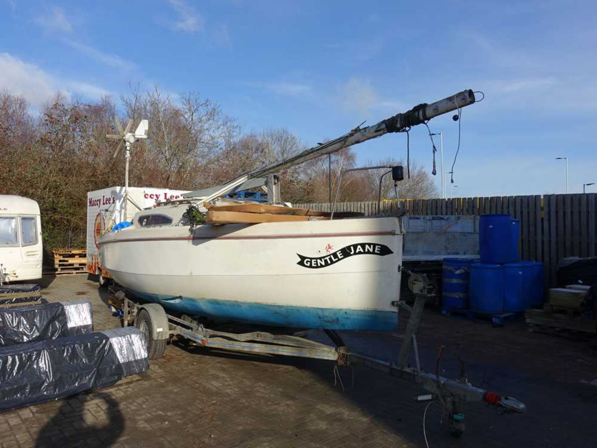
[{"label": "dark shadow of the photographer cast on the brick paving", "polygon": [[[112,446],[124,431],[124,416],[118,401],[106,392],[91,392],[92,400],[101,398],[107,404],[108,420],[104,424],[88,425],[85,423],[85,406],[81,403],[73,410],[69,400],[64,400],[56,414],[39,431],[35,446],[51,448],[57,446]],[[101,406],[101,404],[100,404]]]}]

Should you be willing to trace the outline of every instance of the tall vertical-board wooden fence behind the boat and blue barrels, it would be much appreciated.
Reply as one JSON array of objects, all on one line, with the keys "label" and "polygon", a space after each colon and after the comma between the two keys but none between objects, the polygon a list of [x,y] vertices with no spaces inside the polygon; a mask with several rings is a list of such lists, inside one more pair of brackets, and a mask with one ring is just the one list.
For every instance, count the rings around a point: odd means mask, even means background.
[{"label": "tall vertical-board wooden fence behind the boat and blue barrels", "polygon": [[[294,204],[330,211],[330,204]],[[381,202],[382,214],[398,208],[408,215],[507,213],[521,220],[521,255],[545,263],[546,286],[555,286],[558,261],[597,256],[597,194],[497,196]],[[338,202],[337,211],[377,214],[377,201]]]}]

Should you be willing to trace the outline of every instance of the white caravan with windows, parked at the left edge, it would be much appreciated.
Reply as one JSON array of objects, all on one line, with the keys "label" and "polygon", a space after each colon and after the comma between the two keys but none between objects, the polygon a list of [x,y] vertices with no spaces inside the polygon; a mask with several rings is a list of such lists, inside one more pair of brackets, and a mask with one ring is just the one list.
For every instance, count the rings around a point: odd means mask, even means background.
[{"label": "white caravan with windows, parked at the left edge", "polygon": [[0,283],[41,278],[42,261],[38,203],[0,195]]}]

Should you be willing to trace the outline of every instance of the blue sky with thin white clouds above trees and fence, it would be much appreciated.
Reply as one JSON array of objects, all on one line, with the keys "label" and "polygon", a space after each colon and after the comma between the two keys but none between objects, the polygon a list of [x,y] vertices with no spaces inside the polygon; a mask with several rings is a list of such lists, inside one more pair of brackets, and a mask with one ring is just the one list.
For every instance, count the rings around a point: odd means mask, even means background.
[{"label": "blue sky with thin white clouds above trees and fence", "polygon": [[[312,146],[470,88],[485,99],[462,109],[448,197],[564,193],[556,157],[578,193],[597,183],[596,23],[595,0],[0,0],[0,90],[34,110],[57,92],[198,92],[246,132],[284,127]],[[444,172],[452,115],[429,122]],[[430,172],[427,129],[410,137]],[[406,158],[406,136],[353,149],[359,165]]]}]

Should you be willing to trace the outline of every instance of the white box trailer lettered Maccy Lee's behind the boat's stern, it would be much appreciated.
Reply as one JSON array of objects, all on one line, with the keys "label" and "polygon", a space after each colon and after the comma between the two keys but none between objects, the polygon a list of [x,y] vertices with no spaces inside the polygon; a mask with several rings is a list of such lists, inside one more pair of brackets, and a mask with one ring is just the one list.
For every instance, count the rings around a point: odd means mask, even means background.
[{"label": "white box trailer lettered Maccy Lee's behind the boat's stern", "polygon": [[[115,186],[87,193],[87,272],[109,278],[101,266],[97,241],[105,232],[124,221],[131,221],[135,213],[144,208],[152,208],[158,202],[180,199],[187,191],[167,188],[129,187],[130,201],[125,207],[124,187]],[[126,216],[125,216],[126,210]]]}]

